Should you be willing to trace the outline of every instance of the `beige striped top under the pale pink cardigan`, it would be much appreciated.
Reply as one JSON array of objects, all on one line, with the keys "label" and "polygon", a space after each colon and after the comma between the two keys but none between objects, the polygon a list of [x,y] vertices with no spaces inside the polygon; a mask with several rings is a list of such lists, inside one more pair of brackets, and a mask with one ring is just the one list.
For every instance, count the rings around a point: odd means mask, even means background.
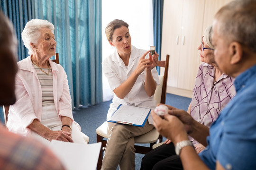
[{"label": "beige striped top under the pale pink cardigan", "polygon": [[[41,71],[35,64],[33,67],[37,71],[37,76],[42,88],[42,98],[43,98],[43,107],[55,105],[54,104],[54,96],[53,96],[53,72],[50,68],[49,75],[46,75],[43,71]],[[48,68],[42,68],[46,73],[48,73]]]}]

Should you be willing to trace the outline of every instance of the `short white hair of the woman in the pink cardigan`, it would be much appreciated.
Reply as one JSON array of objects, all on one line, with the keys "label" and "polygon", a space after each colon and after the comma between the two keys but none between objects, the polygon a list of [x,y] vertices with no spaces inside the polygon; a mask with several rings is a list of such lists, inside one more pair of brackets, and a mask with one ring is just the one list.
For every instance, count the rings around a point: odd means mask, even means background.
[{"label": "short white hair of the woman in the pink cardigan", "polygon": [[29,55],[33,54],[33,48],[30,46],[30,42],[37,43],[42,28],[49,28],[54,33],[54,25],[45,19],[31,19],[27,22],[21,33],[22,40],[28,49]]}]

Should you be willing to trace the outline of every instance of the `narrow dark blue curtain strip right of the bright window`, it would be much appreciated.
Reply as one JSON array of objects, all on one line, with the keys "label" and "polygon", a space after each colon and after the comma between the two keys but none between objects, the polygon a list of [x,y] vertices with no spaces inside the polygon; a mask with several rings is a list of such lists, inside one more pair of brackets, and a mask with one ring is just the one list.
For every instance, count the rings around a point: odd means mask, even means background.
[{"label": "narrow dark blue curtain strip right of the bright window", "polygon": [[[153,21],[154,21],[154,44],[155,51],[159,54],[159,60],[161,59],[161,43],[162,43],[162,25],[163,25],[163,8],[164,0],[152,0],[153,1]],[[158,74],[160,74],[160,68],[156,68]]]}]

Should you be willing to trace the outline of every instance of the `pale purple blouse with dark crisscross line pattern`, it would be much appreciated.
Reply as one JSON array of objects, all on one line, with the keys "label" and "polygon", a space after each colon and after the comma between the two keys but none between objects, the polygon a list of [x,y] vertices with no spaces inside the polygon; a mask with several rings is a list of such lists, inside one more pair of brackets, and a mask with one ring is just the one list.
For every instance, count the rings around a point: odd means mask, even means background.
[{"label": "pale purple blouse with dark crisscross line pattern", "polygon": [[[214,82],[215,68],[207,63],[199,67],[195,79],[190,114],[193,119],[210,127],[220,111],[235,96],[234,78],[222,74]],[[198,143],[190,137],[193,144]]]}]

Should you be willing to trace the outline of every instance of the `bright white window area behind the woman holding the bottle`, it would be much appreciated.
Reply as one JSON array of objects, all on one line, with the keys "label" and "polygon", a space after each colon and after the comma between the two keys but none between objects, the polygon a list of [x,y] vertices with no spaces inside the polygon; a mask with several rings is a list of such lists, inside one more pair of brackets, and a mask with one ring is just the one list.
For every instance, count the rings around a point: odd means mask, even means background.
[{"label": "bright white window area behind the woman holding the bottle", "polygon": [[[154,45],[152,0],[102,0],[102,59],[115,50],[105,34],[106,26],[114,19],[128,23],[132,45],[145,50]],[[113,95],[103,73],[102,82],[103,101],[109,101]]]}]

